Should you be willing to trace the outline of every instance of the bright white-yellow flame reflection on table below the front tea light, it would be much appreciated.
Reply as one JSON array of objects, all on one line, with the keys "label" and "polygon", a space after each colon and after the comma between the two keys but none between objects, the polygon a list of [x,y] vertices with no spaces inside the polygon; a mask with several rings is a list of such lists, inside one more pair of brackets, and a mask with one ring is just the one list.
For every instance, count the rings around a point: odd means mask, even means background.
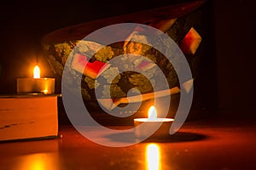
[{"label": "bright white-yellow flame reflection on table below the front tea light", "polygon": [[157,144],[148,144],[146,148],[146,169],[160,170],[160,148]]}]

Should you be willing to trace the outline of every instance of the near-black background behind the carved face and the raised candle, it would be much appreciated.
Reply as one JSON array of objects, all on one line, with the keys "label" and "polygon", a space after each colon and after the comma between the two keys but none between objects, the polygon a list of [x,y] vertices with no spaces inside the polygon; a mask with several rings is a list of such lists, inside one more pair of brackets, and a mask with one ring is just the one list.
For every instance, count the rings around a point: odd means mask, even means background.
[{"label": "near-black background behind the carved face and the raised candle", "polygon": [[[35,63],[42,77],[54,77],[41,54],[40,40],[50,31],[89,20],[128,14],[181,1],[12,1],[1,4],[0,94],[15,94],[17,77],[30,77]],[[212,75],[210,89],[217,93],[216,107],[235,116],[253,116],[255,64],[255,10],[247,1],[207,1],[212,31]],[[206,56],[207,57],[207,56]],[[215,78],[217,80],[215,81]],[[207,82],[206,82],[207,84]],[[207,86],[208,87],[208,86]],[[216,88],[214,88],[216,87]],[[211,94],[211,93],[209,93]],[[206,103],[212,95],[205,94]],[[1,105],[1,104],[0,104]]]}]

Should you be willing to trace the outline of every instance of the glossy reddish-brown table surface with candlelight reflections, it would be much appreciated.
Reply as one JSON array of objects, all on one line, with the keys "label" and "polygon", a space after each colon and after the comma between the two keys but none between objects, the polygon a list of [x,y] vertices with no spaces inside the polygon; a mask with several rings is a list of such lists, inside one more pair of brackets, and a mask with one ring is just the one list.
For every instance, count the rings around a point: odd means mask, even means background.
[{"label": "glossy reddish-brown table surface with candlelight reflections", "polygon": [[189,121],[167,139],[119,148],[95,144],[72,126],[61,126],[60,134],[1,143],[0,169],[256,169],[252,119]]}]

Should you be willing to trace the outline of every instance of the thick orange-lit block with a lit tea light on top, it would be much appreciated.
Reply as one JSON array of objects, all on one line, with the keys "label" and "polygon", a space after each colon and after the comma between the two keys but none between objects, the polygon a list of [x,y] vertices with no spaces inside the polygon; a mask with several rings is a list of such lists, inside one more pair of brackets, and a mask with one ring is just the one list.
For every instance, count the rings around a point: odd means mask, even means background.
[{"label": "thick orange-lit block with a lit tea light on top", "polygon": [[0,141],[57,135],[57,95],[0,96]]}]

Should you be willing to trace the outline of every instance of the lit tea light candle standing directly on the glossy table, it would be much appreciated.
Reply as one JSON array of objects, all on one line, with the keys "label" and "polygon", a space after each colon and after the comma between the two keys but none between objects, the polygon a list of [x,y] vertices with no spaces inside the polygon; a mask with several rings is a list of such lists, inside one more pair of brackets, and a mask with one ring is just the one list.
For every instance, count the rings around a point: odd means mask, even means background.
[{"label": "lit tea light candle standing directly on the glossy table", "polygon": [[[134,125],[136,127],[134,128],[134,133],[137,138],[146,138],[149,136],[153,138],[163,137],[169,134],[173,121],[174,119],[172,118],[157,118],[157,111],[154,105],[152,105],[148,109],[148,118],[134,119]],[[139,125],[142,126],[137,127]],[[152,134],[152,132],[154,133]]]}]

